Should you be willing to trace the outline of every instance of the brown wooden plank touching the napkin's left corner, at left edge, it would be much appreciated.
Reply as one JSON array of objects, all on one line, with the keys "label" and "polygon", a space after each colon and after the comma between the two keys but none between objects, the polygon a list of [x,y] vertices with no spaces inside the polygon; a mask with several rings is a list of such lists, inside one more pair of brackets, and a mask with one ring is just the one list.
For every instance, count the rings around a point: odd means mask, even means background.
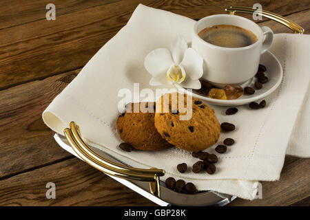
[{"label": "brown wooden plank touching the napkin's left corner, at left edge", "polygon": [[72,157],[56,144],[41,118],[79,69],[0,91],[0,179]]}]

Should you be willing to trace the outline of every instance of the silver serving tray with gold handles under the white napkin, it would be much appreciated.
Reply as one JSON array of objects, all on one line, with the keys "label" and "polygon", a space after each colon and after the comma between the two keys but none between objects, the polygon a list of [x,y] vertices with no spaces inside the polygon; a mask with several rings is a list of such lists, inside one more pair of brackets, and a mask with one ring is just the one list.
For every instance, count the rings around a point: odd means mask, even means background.
[{"label": "silver serving tray with gold handles under the white napkin", "polygon": [[[256,12],[263,17],[282,23],[294,33],[302,34],[304,32],[304,29],[298,24],[265,10],[256,11],[242,6],[231,6],[225,11],[229,14]],[[83,141],[79,126],[75,122],[70,122],[70,127],[65,129],[63,134],[55,134],[54,139],[66,151],[160,206],[225,206],[236,199],[235,196],[220,195],[211,191],[199,191],[188,195],[170,190],[160,180],[160,177],[165,175],[165,170],[133,168],[98,148],[88,146]]]}]

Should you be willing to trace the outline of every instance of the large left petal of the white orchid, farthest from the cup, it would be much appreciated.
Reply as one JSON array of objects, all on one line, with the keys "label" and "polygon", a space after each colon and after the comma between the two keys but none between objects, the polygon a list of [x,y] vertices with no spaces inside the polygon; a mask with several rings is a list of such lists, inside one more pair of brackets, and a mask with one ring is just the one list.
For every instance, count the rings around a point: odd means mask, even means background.
[{"label": "large left petal of the white orchid, farthest from the cup", "polygon": [[158,48],[149,52],[144,60],[144,67],[154,77],[166,73],[173,64],[171,54],[166,48]]}]

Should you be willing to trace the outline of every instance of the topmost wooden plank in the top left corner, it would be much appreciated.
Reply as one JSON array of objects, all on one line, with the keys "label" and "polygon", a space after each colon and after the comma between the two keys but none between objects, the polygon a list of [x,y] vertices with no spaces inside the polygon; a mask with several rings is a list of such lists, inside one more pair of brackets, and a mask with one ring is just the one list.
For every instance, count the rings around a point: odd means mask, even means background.
[{"label": "topmost wooden plank in the top left corner", "polygon": [[56,7],[56,17],[61,14],[68,14],[86,8],[93,8],[99,5],[114,3],[121,0],[92,0],[92,1],[76,1],[76,0],[1,0],[0,1],[0,30],[10,28],[12,26],[22,25],[33,21],[45,19],[45,9],[48,3],[53,3]]}]

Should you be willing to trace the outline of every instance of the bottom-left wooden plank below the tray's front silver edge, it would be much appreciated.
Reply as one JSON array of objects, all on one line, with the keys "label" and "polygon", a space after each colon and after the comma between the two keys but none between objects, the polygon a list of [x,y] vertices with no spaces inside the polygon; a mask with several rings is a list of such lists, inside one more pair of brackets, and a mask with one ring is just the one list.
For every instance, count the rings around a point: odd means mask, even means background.
[{"label": "bottom-left wooden plank below the tray's front silver edge", "polygon": [[[45,197],[56,185],[56,199]],[[68,159],[0,181],[0,206],[154,206],[80,159]]]}]

